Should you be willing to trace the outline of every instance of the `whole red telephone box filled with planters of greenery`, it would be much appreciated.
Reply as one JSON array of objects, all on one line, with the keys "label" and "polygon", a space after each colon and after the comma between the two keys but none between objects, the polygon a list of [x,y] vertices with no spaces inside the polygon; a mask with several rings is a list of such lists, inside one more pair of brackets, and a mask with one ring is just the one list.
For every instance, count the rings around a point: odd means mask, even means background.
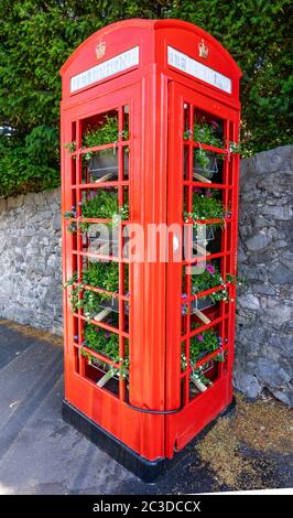
[{"label": "whole red telephone box filled with planters of greenery", "polygon": [[191,23],[127,20],[61,74],[63,414],[150,481],[232,401],[241,73]]}]

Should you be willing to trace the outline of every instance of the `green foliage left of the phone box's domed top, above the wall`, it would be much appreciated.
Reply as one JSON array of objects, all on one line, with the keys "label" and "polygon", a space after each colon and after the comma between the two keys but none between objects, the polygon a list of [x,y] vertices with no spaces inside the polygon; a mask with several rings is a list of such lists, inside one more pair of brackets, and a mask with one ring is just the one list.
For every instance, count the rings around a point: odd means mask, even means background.
[{"label": "green foliage left of the phone box's domed top, above the wall", "polygon": [[1,0],[0,196],[59,185],[59,68],[66,58],[98,29],[127,18],[161,17],[165,3]]}]

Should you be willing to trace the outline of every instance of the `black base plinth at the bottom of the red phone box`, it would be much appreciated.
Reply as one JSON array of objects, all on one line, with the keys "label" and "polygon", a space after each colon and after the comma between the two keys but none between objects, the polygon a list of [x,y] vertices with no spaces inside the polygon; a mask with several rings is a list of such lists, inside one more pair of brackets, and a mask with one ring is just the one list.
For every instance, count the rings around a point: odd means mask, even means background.
[{"label": "black base plinth at the bottom of the red phone box", "polygon": [[[192,445],[198,442],[213,427],[215,421],[226,416],[235,408],[235,398],[232,402],[211,421],[196,438],[192,441]],[[160,475],[165,473],[171,466],[177,463],[183,456],[185,449],[176,453],[173,458],[158,458],[156,461],[148,461],[140,456],[133,450],[128,447],[121,441],[116,439],[109,432],[104,430],[97,423],[88,419],[84,413],[79,412],[65,399],[62,406],[62,416],[66,423],[72,424],[78,432],[83,433],[89,441],[104,452],[108,453],[115,461],[132,472],[144,482],[153,482]]]}]

